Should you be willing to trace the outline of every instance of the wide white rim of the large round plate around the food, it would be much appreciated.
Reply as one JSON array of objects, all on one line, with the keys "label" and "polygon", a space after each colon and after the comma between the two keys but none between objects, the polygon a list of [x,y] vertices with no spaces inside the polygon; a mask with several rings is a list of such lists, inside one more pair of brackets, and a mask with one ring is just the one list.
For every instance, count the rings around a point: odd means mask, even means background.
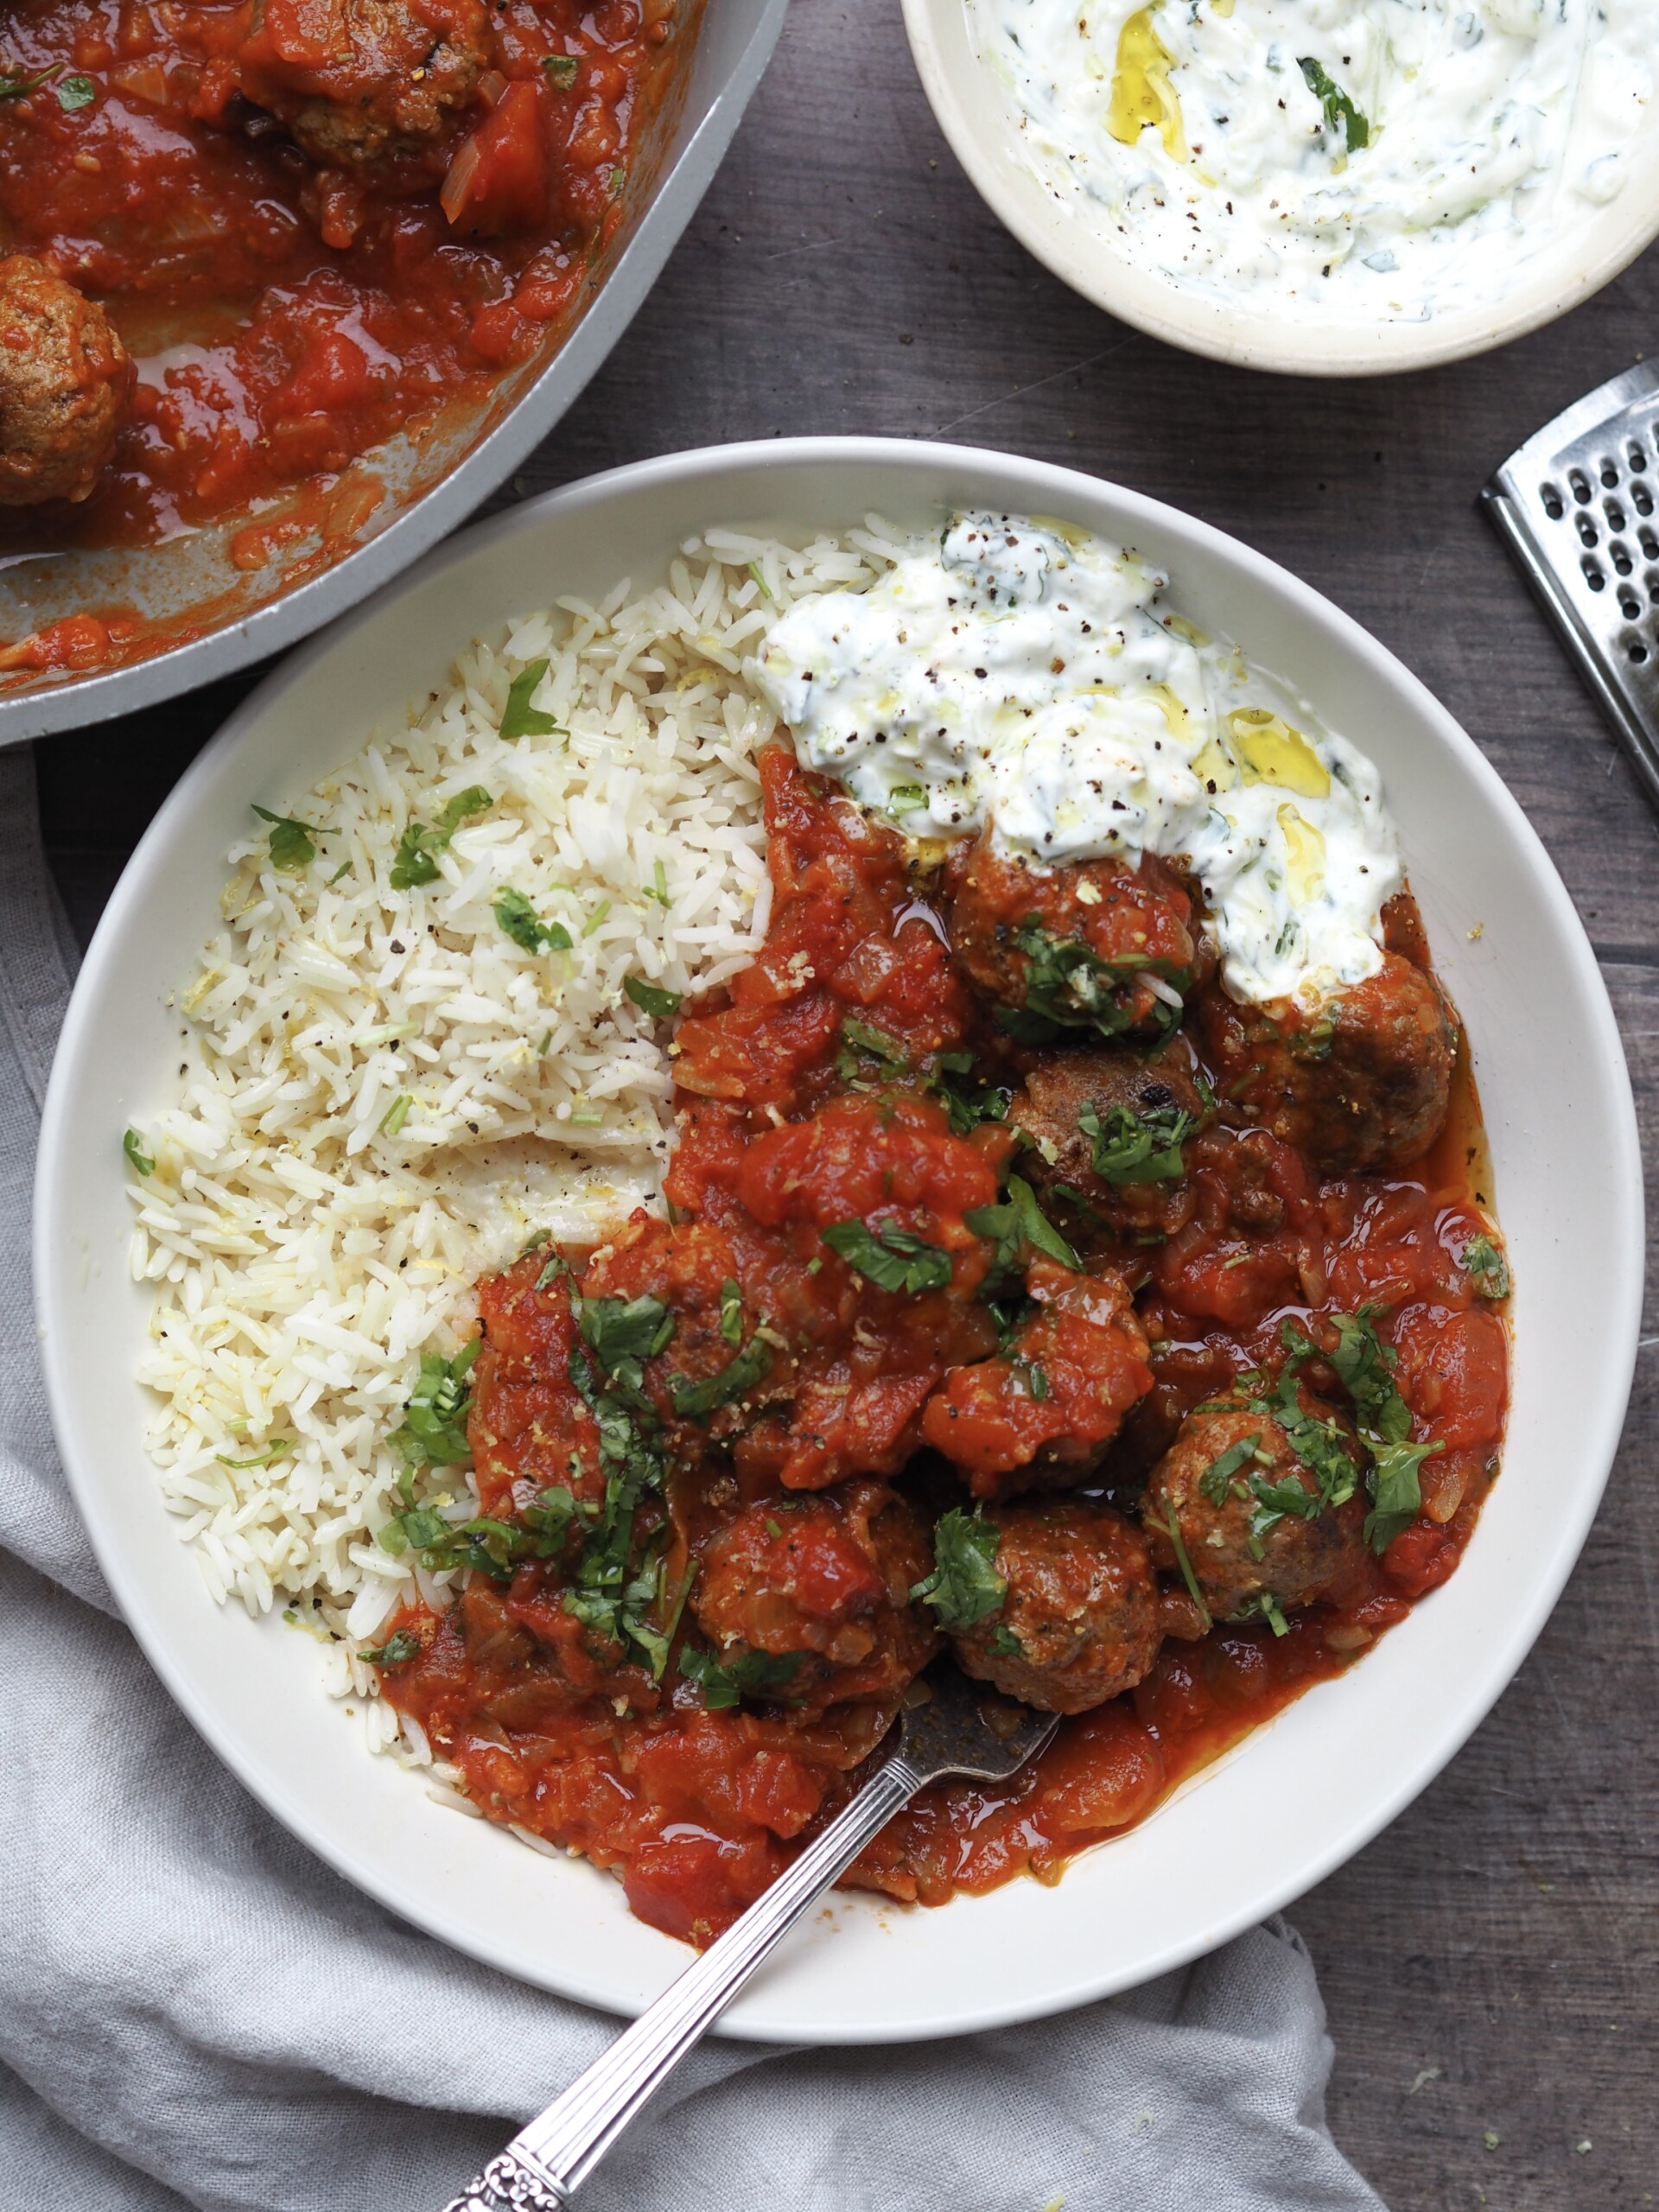
[{"label": "wide white rim of the large round plate around the food", "polygon": [[[697,529],[936,522],[958,504],[1062,515],[1135,544],[1172,599],[1290,677],[1387,776],[1440,973],[1475,1042],[1515,1263],[1502,1480],[1453,1582],[1152,1820],[1055,1889],[942,1911],[838,1900],[728,2015],[748,2037],[894,2042],[1055,2013],[1250,1927],[1367,1843],[1491,1708],[1555,1604],[1606,1482],[1635,1363],[1641,1168],[1590,947],[1544,847],[1473,743],[1354,622],[1217,531],[1066,469],[887,440],[677,453],[469,531],[272,675],[159,812],[82,969],[46,1099],[35,1283],[53,1420],[126,1619],[179,1705],[263,1803],[418,1927],[544,1989],[637,2011],[688,1953],[622,1889],[434,1805],[369,1759],[312,1644],[217,1610],[164,1513],[131,1380],[122,1130],[170,1095],[186,982],[250,799],[299,799],[372,723],[445,681],[478,633],[557,593],[650,580]],[[1480,936],[1471,940],[1475,925]],[[164,1783],[166,1785],[166,1783]]]}]

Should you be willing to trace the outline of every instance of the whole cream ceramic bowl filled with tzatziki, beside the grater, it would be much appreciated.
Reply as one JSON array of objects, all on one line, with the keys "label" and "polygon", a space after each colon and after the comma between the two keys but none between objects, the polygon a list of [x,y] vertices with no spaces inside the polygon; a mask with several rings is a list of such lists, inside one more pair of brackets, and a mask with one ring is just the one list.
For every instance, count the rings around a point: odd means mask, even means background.
[{"label": "whole cream ceramic bowl filled with tzatziki, beside the grater", "polygon": [[1504,345],[1659,237],[1655,0],[905,0],[991,210],[1256,369]]}]

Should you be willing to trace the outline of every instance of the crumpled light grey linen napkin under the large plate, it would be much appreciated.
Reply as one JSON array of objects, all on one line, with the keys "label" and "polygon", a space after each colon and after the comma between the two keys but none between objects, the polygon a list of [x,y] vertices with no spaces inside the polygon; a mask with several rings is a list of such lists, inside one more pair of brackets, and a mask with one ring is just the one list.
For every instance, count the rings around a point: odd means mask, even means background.
[{"label": "crumpled light grey linen napkin under the large plate", "polygon": [[[617,2022],[341,1882],[219,1767],[115,1615],[24,1296],[75,964],[27,748],[0,754],[0,2205],[438,2212]],[[1314,1969],[1274,1920],[998,2035],[706,2042],[582,2203],[1380,2212],[1325,2130],[1329,2062]]]}]

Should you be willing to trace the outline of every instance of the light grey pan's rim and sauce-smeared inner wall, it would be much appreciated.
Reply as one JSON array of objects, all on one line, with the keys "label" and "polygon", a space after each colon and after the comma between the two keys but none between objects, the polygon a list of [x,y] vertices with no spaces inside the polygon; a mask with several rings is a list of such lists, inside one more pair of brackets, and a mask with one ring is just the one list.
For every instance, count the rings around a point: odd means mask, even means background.
[{"label": "light grey pan's rim and sauce-smeared inner wall", "polygon": [[372,469],[387,498],[332,566],[292,582],[283,562],[243,573],[230,538],[246,515],[155,546],[91,549],[0,566],[0,644],[69,615],[133,608],[181,644],[128,666],[0,675],[0,745],[77,730],[175,699],[292,646],[356,606],[462,522],[553,429],[617,343],[708,190],[761,82],[790,0],[706,0],[690,66],[657,117],[633,221],[562,343],[447,420],[416,451],[394,440]]}]

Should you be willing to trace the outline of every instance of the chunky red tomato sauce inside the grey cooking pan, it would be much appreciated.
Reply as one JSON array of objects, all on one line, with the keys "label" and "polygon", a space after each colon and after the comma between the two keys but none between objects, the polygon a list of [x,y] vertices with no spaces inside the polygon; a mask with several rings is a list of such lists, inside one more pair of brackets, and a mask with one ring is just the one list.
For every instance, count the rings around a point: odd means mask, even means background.
[{"label": "chunky red tomato sauce inside the grey cooking pan", "polygon": [[[7,9],[4,84],[42,80],[0,100],[7,250],[102,301],[139,378],[93,498],[7,515],[2,551],[155,542],[332,487],[389,436],[420,440],[445,407],[487,398],[577,305],[624,219],[675,0],[495,0],[478,11],[489,66],[471,97],[372,164],[305,153],[257,104],[283,106],[268,88],[281,46],[290,104],[316,88],[349,113],[349,82],[314,46],[336,13],[327,0]],[[418,18],[442,33],[440,0]],[[272,551],[254,533],[237,560]],[[88,646],[31,650],[27,666],[86,666]]]}]

